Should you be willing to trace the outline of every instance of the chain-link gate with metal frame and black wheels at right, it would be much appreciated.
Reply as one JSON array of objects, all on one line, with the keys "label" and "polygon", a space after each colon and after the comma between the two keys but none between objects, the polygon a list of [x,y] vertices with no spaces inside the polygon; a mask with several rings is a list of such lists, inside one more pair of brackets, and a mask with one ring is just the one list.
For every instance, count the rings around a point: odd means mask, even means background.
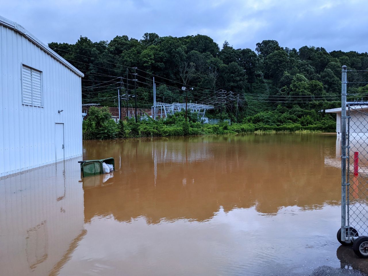
[{"label": "chain-link gate with metal frame and black wheels at right", "polygon": [[356,255],[368,258],[368,101],[347,101],[355,96],[347,93],[348,71],[352,70],[342,66],[341,228],[337,240],[353,245]]}]

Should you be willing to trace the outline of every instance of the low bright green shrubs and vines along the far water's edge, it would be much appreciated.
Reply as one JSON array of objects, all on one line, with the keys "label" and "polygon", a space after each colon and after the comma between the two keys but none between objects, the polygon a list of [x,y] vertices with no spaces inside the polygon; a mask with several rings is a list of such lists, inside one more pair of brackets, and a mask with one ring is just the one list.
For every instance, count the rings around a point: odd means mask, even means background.
[{"label": "low bright green shrubs and vines along the far water's edge", "polygon": [[[177,112],[165,119],[152,120],[134,118],[127,121],[120,120],[118,124],[111,119],[107,107],[91,107],[83,122],[84,139],[113,139],[130,137],[157,137],[182,136],[204,134],[232,134],[246,132],[320,132],[335,131],[335,122],[330,115],[323,115],[314,110],[284,110],[278,107],[276,112],[261,112],[244,118],[242,123],[227,122],[210,125],[203,124],[197,113],[188,113],[188,122],[185,122],[185,112]],[[297,113],[299,116],[293,115]],[[108,116],[107,114],[110,114]],[[267,122],[267,124],[265,124]]]}]

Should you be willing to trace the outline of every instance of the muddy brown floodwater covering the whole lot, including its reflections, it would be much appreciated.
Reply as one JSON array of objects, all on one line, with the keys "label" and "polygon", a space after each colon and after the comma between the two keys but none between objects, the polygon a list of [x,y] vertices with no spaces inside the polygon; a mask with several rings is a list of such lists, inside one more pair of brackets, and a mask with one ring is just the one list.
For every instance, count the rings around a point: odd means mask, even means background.
[{"label": "muddy brown floodwater covering the whole lot, including its reflections", "polygon": [[[85,141],[80,159],[0,179],[0,275],[368,271],[339,247],[335,134]],[[337,148],[337,149],[336,149]]]}]

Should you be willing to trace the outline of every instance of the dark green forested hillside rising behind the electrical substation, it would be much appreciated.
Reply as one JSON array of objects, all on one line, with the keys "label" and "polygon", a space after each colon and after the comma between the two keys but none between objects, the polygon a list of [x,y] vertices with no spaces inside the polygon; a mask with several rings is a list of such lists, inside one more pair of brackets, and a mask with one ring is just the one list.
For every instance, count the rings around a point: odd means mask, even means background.
[{"label": "dark green forested hillside rising behind the electrical substation", "polygon": [[138,107],[151,108],[155,77],[160,102],[183,102],[181,86],[187,86],[194,88],[188,100],[216,107],[209,117],[220,118],[222,110],[221,117],[233,121],[308,125],[333,120],[321,110],[340,105],[342,65],[353,70],[348,72],[350,98],[368,94],[368,72],[359,71],[368,69],[367,52],[289,49],[275,40],[257,43],[256,52],[234,49],[226,41],[220,49],[205,35],[156,33],[145,33],[141,40],[116,36],[110,42],[92,42],[81,37],[75,44],[49,46],[85,74],[84,103],[116,106],[117,88],[134,89],[132,79],[137,79]]}]

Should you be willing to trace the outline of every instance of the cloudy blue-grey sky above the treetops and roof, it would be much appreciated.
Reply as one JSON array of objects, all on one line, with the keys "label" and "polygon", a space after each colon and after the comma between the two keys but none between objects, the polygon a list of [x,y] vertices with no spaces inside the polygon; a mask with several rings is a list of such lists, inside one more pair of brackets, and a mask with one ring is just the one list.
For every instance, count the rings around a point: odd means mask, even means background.
[{"label": "cloudy blue-grey sky above the treetops and roof", "polygon": [[367,14],[367,0],[0,0],[1,16],[45,43],[200,33],[236,48],[275,39],[297,49],[367,52]]}]

